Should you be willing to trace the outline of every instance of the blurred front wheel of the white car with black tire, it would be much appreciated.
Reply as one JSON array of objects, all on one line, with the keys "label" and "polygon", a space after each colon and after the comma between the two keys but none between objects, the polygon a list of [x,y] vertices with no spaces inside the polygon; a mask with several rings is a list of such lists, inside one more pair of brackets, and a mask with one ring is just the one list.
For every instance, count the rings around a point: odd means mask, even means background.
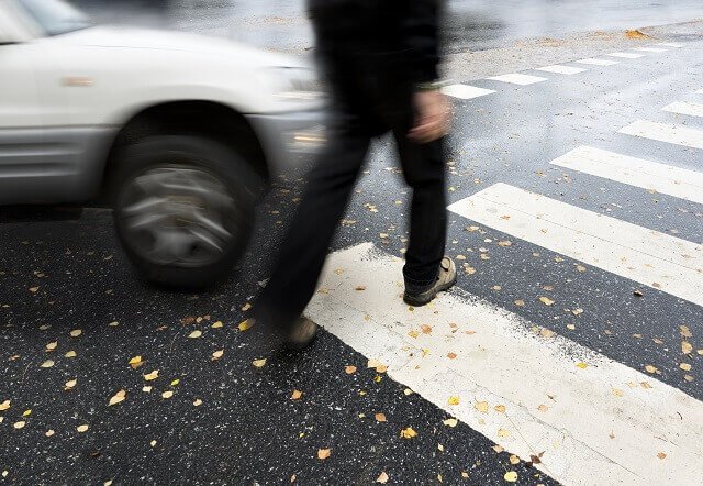
[{"label": "blurred front wheel of the white car with black tire", "polygon": [[140,275],[196,290],[227,277],[254,227],[258,177],[235,151],[199,136],[155,136],[115,157],[118,236]]}]

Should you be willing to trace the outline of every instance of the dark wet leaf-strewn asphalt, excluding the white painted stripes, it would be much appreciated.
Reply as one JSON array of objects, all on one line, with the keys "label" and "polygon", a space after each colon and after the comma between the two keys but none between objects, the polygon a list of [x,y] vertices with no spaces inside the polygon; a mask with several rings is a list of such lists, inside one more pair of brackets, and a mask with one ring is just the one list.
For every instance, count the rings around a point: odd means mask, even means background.
[{"label": "dark wet leaf-strewn asphalt, excluding the white painted stripes", "polygon": [[[548,164],[592,145],[701,170],[700,151],[616,133],[637,118],[703,129],[700,120],[659,111],[701,88],[703,41],[687,40],[693,44],[666,56],[572,77],[526,71],[549,78],[527,87],[472,81],[498,92],[456,103],[449,202],[506,183],[703,241],[700,205]],[[356,222],[341,227],[333,250],[370,241],[401,254],[408,190],[395,166],[390,142],[377,142],[345,217]],[[11,407],[0,412],[0,484],[370,484],[386,472],[389,484],[493,485],[504,484],[507,471],[518,473],[517,484],[554,484],[524,462],[511,464],[470,428],[444,426],[444,411],[367,369],[366,357],[324,331],[293,355],[256,328],[237,329],[294,211],[298,176],[278,179],[260,205],[241,267],[198,295],[140,281],[105,210],[2,209],[0,402]],[[688,357],[691,372],[679,367],[681,324],[703,349],[701,307],[649,288],[637,297],[640,286],[631,280],[588,265],[579,272],[580,262],[489,228],[466,231],[475,222],[456,214],[449,221],[447,253],[468,255],[477,270],[460,275],[461,289],[633,368],[655,365],[657,379],[703,399],[703,357]],[[499,246],[503,240],[513,244]],[[490,259],[477,257],[480,247]],[[543,295],[557,303],[540,305]],[[566,311],[574,308],[583,313]],[[201,336],[189,338],[197,330]],[[135,356],[144,363],[136,369],[129,364]],[[264,357],[263,368],[252,366]],[[54,364],[42,367],[47,360]],[[347,374],[348,365],[357,372]],[[155,369],[158,378],[146,382]],[[110,406],[120,390],[126,398]],[[291,400],[293,390],[302,398]],[[401,439],[406,427],[417,437]],[[320,449],[331,456],[319,460]]]}]

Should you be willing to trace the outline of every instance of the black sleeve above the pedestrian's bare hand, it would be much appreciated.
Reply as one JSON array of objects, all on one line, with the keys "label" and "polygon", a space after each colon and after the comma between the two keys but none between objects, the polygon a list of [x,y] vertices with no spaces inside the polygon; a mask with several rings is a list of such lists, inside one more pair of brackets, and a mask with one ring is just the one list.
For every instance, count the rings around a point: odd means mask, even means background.
[{"label": "black sleeve above the pedestrian's bare hand", "polygon": [[443,0],[405,0],[402,20],[405,45],[410,54],[414,82],[439,78],[439,14]]}]

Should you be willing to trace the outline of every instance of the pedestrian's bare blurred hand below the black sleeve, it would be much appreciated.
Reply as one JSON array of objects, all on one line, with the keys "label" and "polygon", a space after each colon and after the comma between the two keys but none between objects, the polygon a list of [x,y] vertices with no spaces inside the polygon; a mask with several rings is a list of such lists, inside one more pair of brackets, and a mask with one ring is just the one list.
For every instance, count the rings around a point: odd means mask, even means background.
[{"label": "pedestrian's bare blurred hand below the black sleeve", "polygon": [[417,143],[442,139],[449,131],[451,104],[438,89],[414,95],[415,125],[408,136]]}]

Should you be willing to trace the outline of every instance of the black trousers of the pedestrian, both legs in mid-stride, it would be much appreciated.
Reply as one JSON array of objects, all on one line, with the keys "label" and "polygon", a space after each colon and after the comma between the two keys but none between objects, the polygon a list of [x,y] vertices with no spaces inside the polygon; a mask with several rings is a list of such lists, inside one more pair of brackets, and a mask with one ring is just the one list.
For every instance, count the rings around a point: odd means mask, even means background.
[{"label": "black trousers of the pedestrian, both legs in mid-stride", "polygon": [[[368,120],[352,104],[338,103],[331,140],[308,176],[298,213],[282,242],[274,273],[255,312],[265,324],[288,328],[302,314],[315,292],[330,243],[371,137],[382,123],[395,137],[403,175],[412,188],[410,244],[403,276],[406,287],[424,288],[437,278],[446,243],[446,195],[443,140],[416,144],[408,139],[413,125],[412,96],[384,110],[384,120]],[[364,100],[358,100],[364,101]],[[368,100],[367,100],[368,101]],[[375,124],[375,130],[368,130]]]}]

